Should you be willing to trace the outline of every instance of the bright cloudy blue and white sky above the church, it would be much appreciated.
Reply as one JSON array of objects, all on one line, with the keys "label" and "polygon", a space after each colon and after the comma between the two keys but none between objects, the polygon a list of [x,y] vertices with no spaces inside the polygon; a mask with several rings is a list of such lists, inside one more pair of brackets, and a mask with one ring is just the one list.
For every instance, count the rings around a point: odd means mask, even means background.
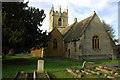
[{"label": "bright cloudy blue and white sky above the church", "polygon": [[46,18],[40,27],[43,31],[48,30],[49,11],[53,5],[55,11],[59,11],[60,6],[62,11],[68,8],[69,25],[74,22],[74,18],[81,21],[96,11],[101,21],[105,20],[112,25],[118,38],[118,2],[119,0],[29,0],[28,5],[45,10]]}]

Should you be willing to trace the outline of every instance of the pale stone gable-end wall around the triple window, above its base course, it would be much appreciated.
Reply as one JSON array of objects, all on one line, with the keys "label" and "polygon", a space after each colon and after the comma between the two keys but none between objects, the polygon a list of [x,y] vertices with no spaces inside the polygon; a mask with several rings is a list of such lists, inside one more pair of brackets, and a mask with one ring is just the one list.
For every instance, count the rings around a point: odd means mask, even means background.
[{"label": "pale stone gable-end wall around the triple window, above its base course", "polygon": [[[89,26],[84,33],[83,41],[83,54],[84,55],[112,55],[113,54],[113,44],[111,44],[111,39],[105,31],[100,19],[97,15],[92,19]],[[92,39],[93,36],[97,35],[99,37],[99,49],[93,49]],[[111,57],[111,56],[110,56]],[[110,58],[104,57],[104,58]],[[97,59],[97,57],[96,57]]]}]

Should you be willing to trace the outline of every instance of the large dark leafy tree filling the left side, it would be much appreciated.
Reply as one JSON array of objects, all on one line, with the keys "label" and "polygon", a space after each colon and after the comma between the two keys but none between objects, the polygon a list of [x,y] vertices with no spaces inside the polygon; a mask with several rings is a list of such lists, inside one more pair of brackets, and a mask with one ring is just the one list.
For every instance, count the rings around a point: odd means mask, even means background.
[{"label": "large dark leafy tree filling the left side", "polygon": [[[2,3],[3,53],[28,51],[43,44],[46,34],[39,29],[46,15],[44,10],[29,7],[28,2]],[[44,40],[45,41],[45,40]],[[14,51],[13,51],[14,50]]]}]

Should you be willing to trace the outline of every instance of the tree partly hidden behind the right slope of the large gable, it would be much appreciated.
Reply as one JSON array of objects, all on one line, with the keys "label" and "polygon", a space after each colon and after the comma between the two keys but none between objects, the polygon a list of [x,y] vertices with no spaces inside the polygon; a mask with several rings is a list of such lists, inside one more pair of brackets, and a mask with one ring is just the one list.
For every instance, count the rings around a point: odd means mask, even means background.
[{"label": "tree partly hidden behind the right slope of the large gable", "polygon": [[103,26],[105,27],[106,31],[108,32],[109,36],[112,38],[114,42],[118,42],[117,39],[115,39],[115,31],[112,28],[110,24],[107,24],[104,20],[102,21]]}]

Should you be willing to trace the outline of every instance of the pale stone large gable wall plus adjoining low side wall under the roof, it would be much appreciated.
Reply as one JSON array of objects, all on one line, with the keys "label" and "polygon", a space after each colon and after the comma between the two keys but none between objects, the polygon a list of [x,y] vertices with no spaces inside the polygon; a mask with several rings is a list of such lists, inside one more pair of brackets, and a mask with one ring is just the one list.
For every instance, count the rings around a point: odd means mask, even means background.
[{"label": "pale stone large gable wall plus adjoining low side wall under the roof", "polygon": [[[99,37],[99,49],[93,49],[93,36]],[[74,43],[76,42],[76,50]],[[112,59],[113,53],[112,40],[105,31],[100,19],[94,16],[80,40],[67,43],[67,58],[74,59]]]}]

